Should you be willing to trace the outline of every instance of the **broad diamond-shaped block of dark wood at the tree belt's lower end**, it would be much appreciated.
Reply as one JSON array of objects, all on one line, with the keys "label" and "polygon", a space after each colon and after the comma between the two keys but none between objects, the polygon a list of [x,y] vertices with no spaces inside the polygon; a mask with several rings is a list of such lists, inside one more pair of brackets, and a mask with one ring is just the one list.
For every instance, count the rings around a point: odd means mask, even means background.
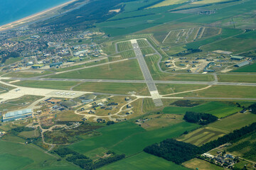
[{"label": "broad diamond-shaped block of dark wood at the tree belt's lower end", "polygon": [[144,149],[144,152],[181,164],[201,154],[201,148],[189,143],[167,139]]}]

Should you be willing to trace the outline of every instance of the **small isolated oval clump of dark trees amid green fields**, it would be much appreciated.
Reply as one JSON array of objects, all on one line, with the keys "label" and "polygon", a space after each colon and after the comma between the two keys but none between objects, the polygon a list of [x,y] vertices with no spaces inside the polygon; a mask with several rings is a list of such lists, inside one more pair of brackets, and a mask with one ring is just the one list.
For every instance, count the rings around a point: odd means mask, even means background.
[{"label": "small isolated oval clump of dark trees amid green fields", "polygon": [[208,123],[213,123],[218,120],[215,115],[211,115],[208,113],[196,113],[187,111],[184,115],[184,120],[188,123],[198,123],[199,125],[207,125]]}]

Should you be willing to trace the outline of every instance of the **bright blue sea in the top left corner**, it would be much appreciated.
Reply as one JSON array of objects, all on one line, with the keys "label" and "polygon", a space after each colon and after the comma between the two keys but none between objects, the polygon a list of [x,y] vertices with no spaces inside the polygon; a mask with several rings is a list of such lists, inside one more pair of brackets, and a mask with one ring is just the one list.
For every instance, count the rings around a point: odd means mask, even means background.
[{"label": "bright blue sea in the top left corner", "polygon": [[0,26],[71,0],[0,0]]}]

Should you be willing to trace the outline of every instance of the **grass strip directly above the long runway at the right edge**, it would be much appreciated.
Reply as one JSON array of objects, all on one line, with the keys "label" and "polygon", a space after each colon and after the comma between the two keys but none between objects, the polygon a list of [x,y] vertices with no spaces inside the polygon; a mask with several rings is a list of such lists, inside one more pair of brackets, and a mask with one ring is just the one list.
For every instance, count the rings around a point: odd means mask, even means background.
[{"label": "grass strip directly above the long runway at the right edge", "polygon": [[256,83],[256,76],[255,75],[218,74],[218,81],[238,82],[238,83]]}]

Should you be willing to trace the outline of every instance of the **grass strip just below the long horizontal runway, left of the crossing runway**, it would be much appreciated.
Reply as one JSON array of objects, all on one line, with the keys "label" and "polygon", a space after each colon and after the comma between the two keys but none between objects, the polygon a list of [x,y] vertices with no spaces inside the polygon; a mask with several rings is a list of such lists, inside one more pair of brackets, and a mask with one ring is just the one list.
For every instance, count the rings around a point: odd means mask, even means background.
[{"label": "grass strip just below the long horizontal runway, left of the crossing runway", "polygon": [[129,92],[135,91],[138,95],[149,95],[146,84],[86,82],[76,86],[73,90],[106,94],[129,94]]}]

